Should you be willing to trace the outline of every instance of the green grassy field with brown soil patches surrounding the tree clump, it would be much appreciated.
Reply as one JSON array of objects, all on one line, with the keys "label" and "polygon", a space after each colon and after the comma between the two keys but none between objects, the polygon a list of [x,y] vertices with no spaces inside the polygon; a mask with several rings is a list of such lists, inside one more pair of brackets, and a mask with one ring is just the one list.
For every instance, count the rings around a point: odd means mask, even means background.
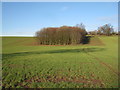
[{"label": "green grassy field with brown soil patches surrounding the tree clump", "polygon": [[2,86],[117,88],[118,37],[90,44],[38,46],[33,37],[3,37]]}]

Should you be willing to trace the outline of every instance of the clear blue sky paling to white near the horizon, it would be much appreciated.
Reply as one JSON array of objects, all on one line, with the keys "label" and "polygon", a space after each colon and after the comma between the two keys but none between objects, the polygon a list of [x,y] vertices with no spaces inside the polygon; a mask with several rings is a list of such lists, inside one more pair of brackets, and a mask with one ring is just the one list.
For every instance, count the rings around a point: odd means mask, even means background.
[{"label": "clear blue sky paling to white near the horizon", "polygon": [[118,27],[117,2],[3,2],[2,35],[33,36],[44,27],[75,26],[87,31],[110,23]]}]

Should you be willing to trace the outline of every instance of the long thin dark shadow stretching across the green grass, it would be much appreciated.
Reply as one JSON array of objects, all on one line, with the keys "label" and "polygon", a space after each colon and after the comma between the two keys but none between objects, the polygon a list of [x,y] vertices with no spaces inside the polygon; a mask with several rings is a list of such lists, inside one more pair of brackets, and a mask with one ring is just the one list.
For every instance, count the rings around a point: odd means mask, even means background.
[{"label": "long thin dark shadow stretching across the green grass", "polygon": [[33,51],[33,52],[18,52],[11,54],[2,54],[2,59],[11,58],[15,56],[27,56],[33,54],[58,54],[58,53],[88,53],[88,52],[99,52],[105,50],[104,48],[81,48],[81,49],[59,49],[59,50],[51,50],[51,51]]}]

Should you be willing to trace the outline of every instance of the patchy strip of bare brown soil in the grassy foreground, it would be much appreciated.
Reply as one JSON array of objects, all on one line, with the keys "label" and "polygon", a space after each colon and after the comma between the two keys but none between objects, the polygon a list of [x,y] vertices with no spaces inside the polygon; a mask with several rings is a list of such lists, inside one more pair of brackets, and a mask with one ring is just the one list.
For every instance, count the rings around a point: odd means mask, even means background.
[{"label": "patchy strip of bare brown soil in the grassy foreground", "polygon": [[[67,76],[50,76],[45,75],[43,77],[34,76],[30,79],[25,80],[26,83],[42,83],[42,82],[52,82],[52,83],[60,83],[60,82],[68,82],[68,83],[81,83],[83,84],[80,87],[90,87],[90,86],[99,86],[104,87],[104,83],[100,79],[95,79],[95,75],[91,76],[90,79],[87,79],[85,76],[79,76],[79,77],[67,77]],[[22,87],[29,87],[27,85],[24,85],[23,83],[19,83],[18,85]]]}]

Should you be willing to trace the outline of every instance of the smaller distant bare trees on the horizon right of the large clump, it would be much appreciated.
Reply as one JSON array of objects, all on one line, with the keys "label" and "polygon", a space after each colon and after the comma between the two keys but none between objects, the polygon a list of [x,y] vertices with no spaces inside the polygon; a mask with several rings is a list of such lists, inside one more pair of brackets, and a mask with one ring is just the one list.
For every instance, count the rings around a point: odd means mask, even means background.
[{"label": "smaller distant bare trees on the horizon right of the large clump", "polygon": [[88,32],[90,35],[118,35],[118,32],[115,32],[113,26],[111,24],[105,24],[103,26],[98,27],[98,30]]}]

